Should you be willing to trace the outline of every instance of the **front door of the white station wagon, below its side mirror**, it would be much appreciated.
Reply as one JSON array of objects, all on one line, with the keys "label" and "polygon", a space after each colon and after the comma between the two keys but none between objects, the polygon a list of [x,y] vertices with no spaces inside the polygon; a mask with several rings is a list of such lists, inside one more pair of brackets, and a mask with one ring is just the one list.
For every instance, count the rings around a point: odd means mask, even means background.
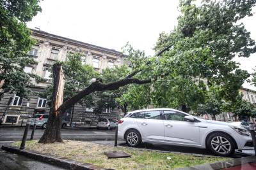
[{"label": "front door of the white station wagon, below its side mirror", "polygon": [[185,120],[185,116],[186,114],[178,111],[164,111],[166,142],[184,145],[200,145],[198,123]]}]

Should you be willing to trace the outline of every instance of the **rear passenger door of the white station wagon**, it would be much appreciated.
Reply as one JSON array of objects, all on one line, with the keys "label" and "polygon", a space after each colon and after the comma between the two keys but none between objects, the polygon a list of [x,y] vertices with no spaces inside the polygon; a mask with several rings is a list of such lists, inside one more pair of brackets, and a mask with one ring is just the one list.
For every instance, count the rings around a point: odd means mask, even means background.
[{"label": "rear passenger door of the white station wagon", "polygon": [[137,124],[148,141],[164,141],[164,124],[161,111],[144,111],[137,113]]}]

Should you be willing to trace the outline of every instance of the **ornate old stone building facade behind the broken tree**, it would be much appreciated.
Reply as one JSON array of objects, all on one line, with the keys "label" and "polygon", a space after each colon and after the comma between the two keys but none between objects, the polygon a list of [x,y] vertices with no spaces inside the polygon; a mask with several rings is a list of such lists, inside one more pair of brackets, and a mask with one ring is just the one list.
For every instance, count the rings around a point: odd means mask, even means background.
[{"label": "ornate old stone building facade behind the broken tree", "polygon": [[[41,83],[34,82],[35,87],[29,87],[33,92],[29,96],[29,99],[22,99],[22,97],[16,96],[15,94],[4,94],[0,101],[0,118],[2,118],[3,124],[21,124],[26,122],[26,119],[35,113],[49,113],[47,99],[40,97],[39,94],[51,83],[51,73],[48,70],[51,69],[52,64],[57,60],[66,60],[68,53],[83,53],[82,63],[93,66],[99,72],[107,67],[125,64],[124,55],[116,50],[56,36],[44,31],[34,29],[31,29],[31,31],[31,36],[37,43],[33,46],[29,54],[38,63],[35,66],[26,66],[24,71],[35,73],[48,81]],[[92,109],[86,108],[86,106],[76,104],[72,118],[73,122],[77,125],[84,125],[97,120],[99,117],[116,118],[115,110],[106,109],[100,115],[95,115],[92,111]],[[67,119],[70,119],[71,113],[72,109],[67,110]]]}]

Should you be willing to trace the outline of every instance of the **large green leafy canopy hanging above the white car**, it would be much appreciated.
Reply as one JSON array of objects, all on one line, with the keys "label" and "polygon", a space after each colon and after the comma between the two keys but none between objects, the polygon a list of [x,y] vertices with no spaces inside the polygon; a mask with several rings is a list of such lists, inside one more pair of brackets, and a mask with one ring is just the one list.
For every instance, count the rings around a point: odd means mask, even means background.
[{"label": "large green leafy canopy hanging above the white car", "polygon": [[[218,86],[221,99],[235,101],[249,74],[233,59],[236,55],[250,57],[256,51],[255,41],[240,20],[252,15],[255,3],[207,0],[196,6],[193,1],[181,0],[177,26],[170,33],[161,33],[155,46],[156,52],[171,46],[168,51],[161,57],[145,57],[129,46],[126,49],[132,69],[142,70],[138,78],[154,82],[145,89],[131,86],[124,99],[188,112],[208,100],[207,89]],[[150,99],[141,103],[137,94]]]}]

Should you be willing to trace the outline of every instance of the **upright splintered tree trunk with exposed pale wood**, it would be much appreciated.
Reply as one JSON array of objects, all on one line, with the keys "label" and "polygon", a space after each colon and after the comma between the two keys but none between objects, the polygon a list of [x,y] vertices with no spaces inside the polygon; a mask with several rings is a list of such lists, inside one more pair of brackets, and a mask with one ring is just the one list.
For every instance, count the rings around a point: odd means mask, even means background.
[{"label": "upright splintered tree trunk with exposed pale wood", "polygon": [[39,143],[61,142],[61,111],[58,108],[63,103],[64,75],[60,64],[54,64],[52,67],[54,80],[52,92],[52,106],[47,121],[47,127]]}]

